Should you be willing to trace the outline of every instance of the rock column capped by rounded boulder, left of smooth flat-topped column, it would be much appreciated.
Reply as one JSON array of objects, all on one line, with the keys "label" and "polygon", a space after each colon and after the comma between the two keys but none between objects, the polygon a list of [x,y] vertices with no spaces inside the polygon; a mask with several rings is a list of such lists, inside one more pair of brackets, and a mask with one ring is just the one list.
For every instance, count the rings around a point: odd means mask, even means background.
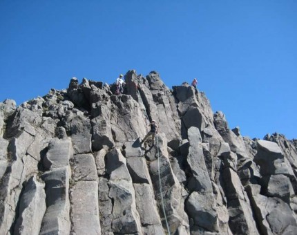
[{"label": "rock column capped by rounded boulder, left of smooth flat-topped column", "polygon": [[44,157],[41,178],[46,183],[46,214],[41,223],[40,234],[70,233],[69,159],[73,157],[70,138],[52,139]]}]

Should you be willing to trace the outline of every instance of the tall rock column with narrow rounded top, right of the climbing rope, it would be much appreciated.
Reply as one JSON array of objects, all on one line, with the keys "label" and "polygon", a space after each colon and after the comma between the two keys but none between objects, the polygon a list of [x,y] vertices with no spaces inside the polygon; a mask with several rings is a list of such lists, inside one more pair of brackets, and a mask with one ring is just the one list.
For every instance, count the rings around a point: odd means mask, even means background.
[{"label": "tall rock column with narrow rounded top, right of the climbing rope", "polygon": [[218,232],[218,214],[209,173],[204,160],[202,139],[197,127],[188,130],[189,154],[187,161],[192,176],[187,185],[192,191],[186,201],[186,211],[193,220],[193,231]]}]

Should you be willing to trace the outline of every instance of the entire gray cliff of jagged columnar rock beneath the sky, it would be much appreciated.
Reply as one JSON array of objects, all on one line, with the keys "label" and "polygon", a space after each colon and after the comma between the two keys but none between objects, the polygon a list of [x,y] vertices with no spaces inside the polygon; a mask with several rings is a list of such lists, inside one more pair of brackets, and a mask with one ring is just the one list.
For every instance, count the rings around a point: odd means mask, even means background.
[{"label": "entire gray cliff of jagged columnar rock beneath the sky", "polygon": [[296,140],[242,137],[156,72],[124,79],[0,103],[0,234],[297,234]]}]

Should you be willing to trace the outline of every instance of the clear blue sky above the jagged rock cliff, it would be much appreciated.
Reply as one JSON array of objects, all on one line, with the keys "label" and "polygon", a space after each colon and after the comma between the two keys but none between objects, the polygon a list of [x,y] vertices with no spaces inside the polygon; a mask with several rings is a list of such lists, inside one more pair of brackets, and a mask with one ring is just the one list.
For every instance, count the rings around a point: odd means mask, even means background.
[{"label": "clear blue sky above the jagged rock cliff", "polygon": [[242,135],[297,138],[296,0],[1,0],[0,33],[0,101],[157,71]]}]

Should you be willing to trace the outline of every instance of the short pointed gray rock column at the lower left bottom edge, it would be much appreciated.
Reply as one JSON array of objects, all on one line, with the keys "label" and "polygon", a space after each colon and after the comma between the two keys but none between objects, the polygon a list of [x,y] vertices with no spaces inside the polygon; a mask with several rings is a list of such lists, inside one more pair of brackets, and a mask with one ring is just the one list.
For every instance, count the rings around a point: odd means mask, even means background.
[{"label": "short pointed gray rock column at the lower left bottom edge", "polygon": [[46,212],[46,193],[44,183],[32,176],[26,183],[20,199],[19,218],[15,224],[14,234],[39,234],[41,221]]}]

